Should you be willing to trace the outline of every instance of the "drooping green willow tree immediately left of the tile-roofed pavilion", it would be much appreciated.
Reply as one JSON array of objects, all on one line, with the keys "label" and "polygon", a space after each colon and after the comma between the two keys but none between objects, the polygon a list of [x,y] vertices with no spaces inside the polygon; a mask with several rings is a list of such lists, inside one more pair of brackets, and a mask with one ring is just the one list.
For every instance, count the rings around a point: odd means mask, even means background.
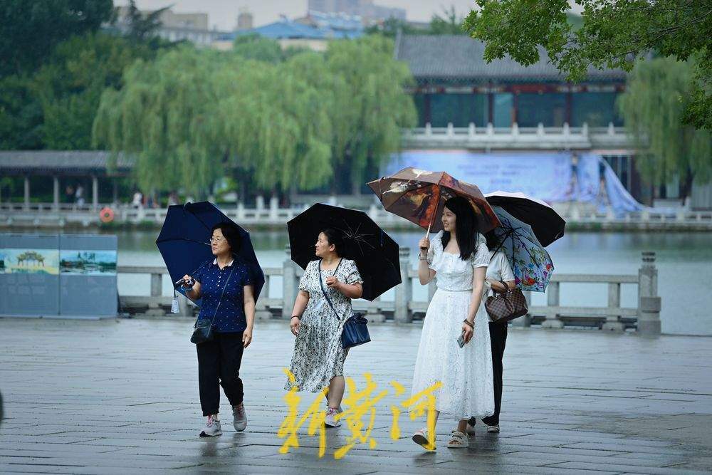
[{"label": "drooping green willow tree immediately left of the tile-roofed pavilion", "polygon": [[377,172],[399,150],[401,130],[416,124],[413,100],[405,92],[412,75],[394,59],[393,42],[382,36],[333,41],[325,61],[333,160],[358,193],[367,172]]}]

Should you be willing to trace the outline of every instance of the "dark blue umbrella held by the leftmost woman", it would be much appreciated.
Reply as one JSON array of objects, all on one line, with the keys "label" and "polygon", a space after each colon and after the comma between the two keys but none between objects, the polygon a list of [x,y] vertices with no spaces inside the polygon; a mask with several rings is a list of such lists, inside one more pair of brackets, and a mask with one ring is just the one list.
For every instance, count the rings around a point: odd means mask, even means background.
[{"label": "dark blue umbrella held by the leftmost woman", "polygon": [[[171,281],[175,283],[186,274],[192,276],[206,262],[214,259],[210,249],[210,232],[218,223],[230,223],[239,229],[242,244],[234,257],[250,269],[257,300],[264,286],[265,276],[252,247],[250,233],[209,202],[174,204],[168,207],[156,245],[161,251]],[[182,289],[177,290],[185,295]],[[196,303],[200,305],[200,301]]]}]

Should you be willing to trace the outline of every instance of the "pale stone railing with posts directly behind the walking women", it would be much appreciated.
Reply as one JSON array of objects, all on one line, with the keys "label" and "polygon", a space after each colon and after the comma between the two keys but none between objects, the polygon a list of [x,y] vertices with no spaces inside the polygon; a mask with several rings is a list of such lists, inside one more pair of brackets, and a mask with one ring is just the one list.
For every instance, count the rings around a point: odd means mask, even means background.
[{"label": "pale stone railing with posts directly behind the walking women", "polygon": [[[414,318],[422,318],[428,301],[417,301],[413,298],[414,281],[417,282],[417,269],[409,263],[410,249],[400,249],[400,266],[402,283],[394,289],[394,299],[387,301],[376,298],[375,301],[354,302],[357,311],[365,313],[372,322],[382,323],[386,320],[394,323],[411,323]],[[167,271],[164,267],[118,266],[119,274],[150,274],[150,296],[120,295],[120,311],[130,314],[166,315],[171,306],[172,295],[162,295],[162,278]],[[289,259],[289,249],[281,268],[264,268],[265,286],[262,296],[257,302],[256,318],[290,318],[292,304],[298,292],[298,281],[303,273]],[[270,298],[270,288],[276,285],[274,278],[281,278],[281,297]],[[559,295],[562,283],[608,284],[607,306],[560,306]],[[638,288],[637,308],[627,308],[620,305],[621,286],[636,285]],[[428,286],[428,300],[435,292],[434,283]],[[525,293],[525,294],[528,294]],[[529,295],[527,298],[529,300]],[[180,298],[180,313],[184,316],[194,316],[194,306],[187,299]],[[598,327],[603,330],[622,331],[626,328],[636,328],[639,333],[658,335],[660,333],[660,297],[657,295],[657,269],[655,253],[644,252],[643,263],[638,275],[584,275],[584,274],[554,274],[547,290],[547,305],[530,306],[529,314],[514,320],[514,325],[529,326],[540,324],[542,328],[565,328],[567,326]]]}]

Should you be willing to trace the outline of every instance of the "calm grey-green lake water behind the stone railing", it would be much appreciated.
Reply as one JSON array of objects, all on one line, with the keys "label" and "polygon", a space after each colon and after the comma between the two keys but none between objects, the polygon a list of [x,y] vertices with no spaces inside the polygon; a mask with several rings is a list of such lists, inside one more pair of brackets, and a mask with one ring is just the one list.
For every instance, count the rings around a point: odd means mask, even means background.
[{"label": "calm grey-green lake water behind the stone railing", "polygon": [[[156,248],[157,231],[122,231],[119,239],[120,265],[162,266]],[[415,250],[422,233],[390,232],[401,246]],[[251,234],[263,267],[279,267],[286,258],[286,232],[256,231]],[[642,251],[655,251],[658,292],[662,297],[662,330],[682,335],[712,335],[712,233],[570,233],[548,247],[556,273],[637,274]],[[119,276],[119,291],[125,295],[149,295],[148,276]],[[606,306],[607,284],[564,283],[560,289],[562,306]],[[171,292],[164,279],[164,293]],[[270,292],[281,296],[281,281],[275,279]],[[426,288],[415,286],[414,298],[426,299]],[[384,294],[392,299],[392,291]],[[623,285],[621,305],[634,307],[637,286]],[[532,294],[533,305],[545,305],[543,293]]]}]

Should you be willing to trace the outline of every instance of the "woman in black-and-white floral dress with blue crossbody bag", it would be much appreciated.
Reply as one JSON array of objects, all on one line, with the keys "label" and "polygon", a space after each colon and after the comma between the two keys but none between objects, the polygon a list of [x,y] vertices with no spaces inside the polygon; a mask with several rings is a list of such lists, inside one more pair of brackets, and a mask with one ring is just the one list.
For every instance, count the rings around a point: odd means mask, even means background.
[{"label": "woman in black-and-white floral dress with blue crossbody bag", "polygon": [[319,392],[328,386],[327,427],[341,424],[335,419],[345,390],[347,350],[341,345],[341,333],[351,315],[351,299],[360,298],[363,291],[356,263],[340,257],[342,243],[343,237],[335,229],[319,233],[315,254],[320,259],[308,264],[299,281],[290,320],[296,337],[290,365],[294,379],[288,379],[285,389]]}]

